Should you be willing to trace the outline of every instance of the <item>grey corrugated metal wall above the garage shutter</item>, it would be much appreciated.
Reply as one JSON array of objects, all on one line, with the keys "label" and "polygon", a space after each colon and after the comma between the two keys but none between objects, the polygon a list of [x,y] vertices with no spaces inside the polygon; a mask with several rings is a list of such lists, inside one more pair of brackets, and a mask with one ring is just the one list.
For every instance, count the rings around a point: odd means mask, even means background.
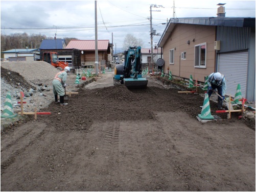
[{"label": "grey corrugated metal wall above the garage shutter", "polygon": [[249,29],[217,27],[216,40],[220,40],[220,51],[218,53],[248,49]]}]

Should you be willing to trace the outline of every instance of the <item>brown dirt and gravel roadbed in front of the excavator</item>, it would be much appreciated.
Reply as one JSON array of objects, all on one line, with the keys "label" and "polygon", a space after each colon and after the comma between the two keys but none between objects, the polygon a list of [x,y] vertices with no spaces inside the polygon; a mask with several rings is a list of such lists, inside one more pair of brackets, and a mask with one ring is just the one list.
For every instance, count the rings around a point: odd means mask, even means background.
[{"label": "brown dirt and gravel roadbed in front of the excavator", "polygon": [[178,91],[80,86],[2,132],[1,190],[255,191],[255,121],[200,123],[204,98]]}]

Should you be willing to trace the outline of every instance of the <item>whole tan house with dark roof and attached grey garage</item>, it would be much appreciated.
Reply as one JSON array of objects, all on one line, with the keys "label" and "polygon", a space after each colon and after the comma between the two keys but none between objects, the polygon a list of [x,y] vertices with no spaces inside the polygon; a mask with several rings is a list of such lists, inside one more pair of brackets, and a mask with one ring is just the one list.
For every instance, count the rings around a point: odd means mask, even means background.
[{"label": "whole tan house with dark roof and attached grey garage", "polygon": [[170,19],[158,47],[164,71],[204,84],[213,72],[224,74],[227,94],[238,83],[242,97],[255,101],[255,18],[196,17]]}]

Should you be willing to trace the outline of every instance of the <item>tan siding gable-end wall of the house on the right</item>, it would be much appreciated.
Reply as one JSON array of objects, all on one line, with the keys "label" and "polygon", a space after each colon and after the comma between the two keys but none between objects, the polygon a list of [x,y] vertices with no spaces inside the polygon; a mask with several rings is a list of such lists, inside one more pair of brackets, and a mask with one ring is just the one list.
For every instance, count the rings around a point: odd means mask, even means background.
[{"label": "tan siding gable-end wall of the house on the right", "polygon": [[[166,63],[164,71],[169,66],[174,76],[189,79],[192,75],[193,79],[204,82],[204,77],[215,70],[214,42],[214,26],[183,23],[173,25],[171,35],[165,43],[161,43],[164,44],[162,46],[163,59]],[[200,57],[198,61],[195,61],[195,52]]]}]

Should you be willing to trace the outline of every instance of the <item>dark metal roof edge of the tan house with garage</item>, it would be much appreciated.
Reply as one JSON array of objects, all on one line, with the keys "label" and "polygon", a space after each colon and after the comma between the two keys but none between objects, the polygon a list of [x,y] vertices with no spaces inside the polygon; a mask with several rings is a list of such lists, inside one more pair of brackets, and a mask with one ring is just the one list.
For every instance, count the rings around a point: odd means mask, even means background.
[{"label": "dark metal roof edge of the tan house with garage", "polygon": [[224,26],[224,27],[251,27],[255,28],[255,17],[187,17],[171,18],[162,34],[158,47],[164,46],[175,25],[204,25],[204,26]]}]

